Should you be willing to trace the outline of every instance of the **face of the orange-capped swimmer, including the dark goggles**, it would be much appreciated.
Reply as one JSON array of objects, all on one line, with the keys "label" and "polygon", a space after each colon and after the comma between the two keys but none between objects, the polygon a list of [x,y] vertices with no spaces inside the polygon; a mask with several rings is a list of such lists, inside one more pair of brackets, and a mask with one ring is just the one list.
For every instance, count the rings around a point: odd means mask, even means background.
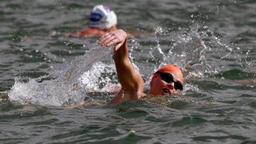
[{"label": "face of the orange-capped swimmer, including the dark goggles", "polygon": [[183,90],[183,78],[175,72],[157,72],[158,76],[150,82],[150,92],[153,95],[177,94]]}]

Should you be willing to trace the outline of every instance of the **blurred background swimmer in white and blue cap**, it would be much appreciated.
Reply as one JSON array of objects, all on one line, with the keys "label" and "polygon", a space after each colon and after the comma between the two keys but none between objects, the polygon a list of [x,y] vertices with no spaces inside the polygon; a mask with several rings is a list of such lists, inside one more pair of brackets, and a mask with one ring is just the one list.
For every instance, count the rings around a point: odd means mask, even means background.
[{"label": "blurred background swimmer in white and blue cap", "polygon": [[73,33],[64,34],[66,37],[94,37],[116,30],[118,18],[108,6],[94,6],[90,13],[90,27]]}]

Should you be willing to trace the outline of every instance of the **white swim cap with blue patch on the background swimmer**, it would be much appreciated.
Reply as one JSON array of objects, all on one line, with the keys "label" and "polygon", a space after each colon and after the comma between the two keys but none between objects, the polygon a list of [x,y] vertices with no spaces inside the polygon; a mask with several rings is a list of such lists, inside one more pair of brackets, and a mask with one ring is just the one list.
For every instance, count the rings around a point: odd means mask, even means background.
[{"label": "white swim cap with blue patch on the background swimmer", "polygon": [[108,29],[118,23],[118,18],[110,7],[97,5],[90,13],[90,26],[99,29]]}]

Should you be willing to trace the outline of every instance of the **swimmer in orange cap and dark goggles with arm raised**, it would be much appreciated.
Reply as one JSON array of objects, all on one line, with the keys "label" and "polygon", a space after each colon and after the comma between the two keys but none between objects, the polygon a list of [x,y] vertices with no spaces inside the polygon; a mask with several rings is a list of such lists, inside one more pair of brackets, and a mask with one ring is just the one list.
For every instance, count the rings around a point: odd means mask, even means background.
[{"label": "swimmer in orange cap and dark goggles with arm raised", "polygon": [[128,34],[124,30],[115,30],[103,34],[98,41],[102,46],[114,46],[113,58],[121,90],[118,91],[118,94],[110,103],[178,94],[179,91],[183,90],[182,70],[176,65],[166,65],[154,73],[150,81],[150,90],[147,94],[144,94],[142,76],[137,70],[134,70],[128,56],[127,37]]}]

